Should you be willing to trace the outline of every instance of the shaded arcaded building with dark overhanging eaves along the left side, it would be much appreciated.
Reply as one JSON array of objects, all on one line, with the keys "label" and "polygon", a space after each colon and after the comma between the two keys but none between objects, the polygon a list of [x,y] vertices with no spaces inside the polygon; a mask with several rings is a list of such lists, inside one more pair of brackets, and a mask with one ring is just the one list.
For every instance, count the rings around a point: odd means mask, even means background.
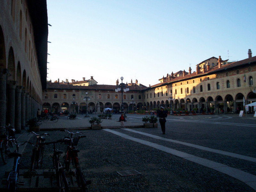
[{"label": "shaded arcaded building with dark overhanging eaves along the left side", "polygon": [[17,131],[42,106],[47,76],[46,0],[1,0],[0,125]]}]

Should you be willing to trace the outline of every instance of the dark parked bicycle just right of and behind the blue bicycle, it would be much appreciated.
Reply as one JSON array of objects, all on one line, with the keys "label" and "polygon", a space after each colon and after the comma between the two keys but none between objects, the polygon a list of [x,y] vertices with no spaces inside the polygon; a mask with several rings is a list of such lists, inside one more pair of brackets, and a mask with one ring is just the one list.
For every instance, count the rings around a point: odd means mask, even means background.
[{"label": "dark parked bicycle just right of and behind the blue bicycle", "polygon": [[[42,135],[49,135],[48,133],[43,133],[43,134],[37,134],[35,132],[30,132],[34,133],[36,135],[36,144],[34,145],[34,148],[32,150],[32,156],[31,156],[31,164],[30,164],[30,171],[33,171],[35,166],[37,168],[41,167],[43,164],[43,155],[44,155],[44,143],[45,143],[45,137],[42,137]],[[28,133],[28,135],[30,134]]]}]

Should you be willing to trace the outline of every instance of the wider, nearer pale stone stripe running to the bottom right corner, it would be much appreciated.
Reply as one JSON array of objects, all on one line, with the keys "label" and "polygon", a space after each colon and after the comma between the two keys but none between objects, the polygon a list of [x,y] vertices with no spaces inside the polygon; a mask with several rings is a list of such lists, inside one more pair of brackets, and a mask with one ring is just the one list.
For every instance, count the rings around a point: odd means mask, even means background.
[{"label": "wider, nearer pale stone stripe running to the bottom right corner", "polygon": [[[136,140],[136,138],[133,138],[129,135],[125,136],[125,134],[123,134],[123,133],[120,134],[120,132],[117,132],[117,131],[113,131],[113,130],[110,130],[110,129],[104,129],[104,131],[111,132],[113,134],[119,135],[119,136],[121,136],[125,139],[131,139],[133,141],[140,142],[141,144],[145,144],[145,145],[148,145],[148,146],[151,145],[151,144],[149,145],[149,143],[151,143],[149,141],[145,142],[144,140],[141,140],[141,139]],[[143,141],[143,142],[141,142],[141,141]],[[179,156],[179,157],[184,158],[188,161],[206,166],[208,168],[214,169],[214,170],[219,171],[221,173],[227,174],[227,175],[229,175],[229,176],[231,176],[231,177],[233,177],[237,180],[240,180],[240,181],[244,182],[245,184],[247,184],[248,186],[250,186],[251,188],[256,190],[256,185],[255,185],[256,176],[255,175],[252,175],[250,173],[246,173],[244,171],[229,167],[229,166],[224,165],[224,164],[220,164],[220,163],[216,163],[214,161],[210,161],[208,159],[204,159],[204,158],[193,156],[193,155],[190,155],[190,154],[187,154],[187,153],[184,153],[184,152],[181,152],[181,151],[177,151],[177,150],[174,150],[174,149],[171,149],[171,148],[167,148],[167,147],[164,147],[164,146],[161,146],[161,145],[158,145],[158,144],[156,144],[155,147],[154,147],[154,145],[151,145],[151,147],[162,150],[162,151],[165,151],[165,152],[170,153],[170,154],[175,155],[175,156]],[[185,157],[182,157],[182,156],[185,156]]]}]

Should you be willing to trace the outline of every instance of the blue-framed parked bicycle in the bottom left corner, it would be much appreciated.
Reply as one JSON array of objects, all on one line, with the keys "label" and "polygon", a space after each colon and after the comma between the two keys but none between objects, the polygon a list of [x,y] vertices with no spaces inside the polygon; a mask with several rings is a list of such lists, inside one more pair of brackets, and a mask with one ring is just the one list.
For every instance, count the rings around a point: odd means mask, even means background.
[{"label": "blue-framed parked bicycle in the bottom left corner", "polygon": [[18,143],[14,138],[9,139],[9,142],[12,141],[16,145],[16,150],[13,153],[9,154],[9,157],[14,157],[13,162],[13,169],[12,172],[9,173],[9,176],[7,180],[3,180],[2,184],[7,184],[7,190],[11,192],[15,192],[17,185],[24,185],[24,182],[18,182],[18,176],[19,176],[19,160],[21,157],[21,154],[19,153],[19,146],[24,145],[25,143],[29,143],[33,146],[33,143],[29,141],[25,141],[24,143],[20,144]]}]

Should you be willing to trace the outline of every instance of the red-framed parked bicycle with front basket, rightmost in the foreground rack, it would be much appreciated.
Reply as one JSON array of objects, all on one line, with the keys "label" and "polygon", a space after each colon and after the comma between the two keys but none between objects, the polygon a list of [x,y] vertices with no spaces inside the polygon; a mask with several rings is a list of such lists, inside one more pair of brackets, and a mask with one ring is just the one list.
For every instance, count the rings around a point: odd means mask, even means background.
[{"label": "red-framed parked bicycle with front basket, rightmost in the foreground rack", "polygon": [[80,138],[84,138],[86,137],[84,136],[76,136],[73,137],[72,136],[74,134],[83,134],[81,132],[69,132],[67,130],[65,130],[65,132],[68,132],[70,134],[70,137],[66,137],[65,139],[63,139],[64,144],[67,145],[67,150],[65,153],[65,156],[63,158],[65,158],[65,169],[66,171],[70,171],[69,167],[70,167],[70,162],[72,162],[73,167],[75,167],[76,170],[76,180],[77,180],[77,185],[78,188],[80,188],[83,192],[87,191],[88,189],[88,185],[92,183],[91,180],[86,180],[82,171],[82,168],[79,165],[79,161],[78,161],[78,155],[77,153],[79,152],[79,150],[77,150],[75,148],[75,146],[77,146],[78,141]]}]

